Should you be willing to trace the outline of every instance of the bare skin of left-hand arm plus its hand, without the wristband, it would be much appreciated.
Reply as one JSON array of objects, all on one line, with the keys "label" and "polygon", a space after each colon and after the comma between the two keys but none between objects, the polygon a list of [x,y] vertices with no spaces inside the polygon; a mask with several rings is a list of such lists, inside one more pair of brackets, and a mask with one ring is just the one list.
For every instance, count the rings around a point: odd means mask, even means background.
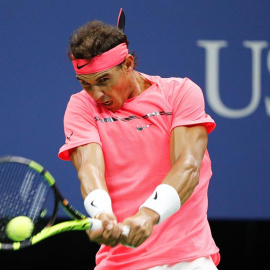
[{"label": "bare skin of left-hand arm plus its hand, without the wristband", "polygon": [[[78,172],[83,199],[95,189],[108,192],[103,152],[99,144],[90,143],[75,148],[70,153],[70,159]],[[116,246],[120,241],[122,229],[117,224],[114,214],[101,213],[97,218],[102,220],[103,228],[87,231],[89,239],[98,244]]]}]

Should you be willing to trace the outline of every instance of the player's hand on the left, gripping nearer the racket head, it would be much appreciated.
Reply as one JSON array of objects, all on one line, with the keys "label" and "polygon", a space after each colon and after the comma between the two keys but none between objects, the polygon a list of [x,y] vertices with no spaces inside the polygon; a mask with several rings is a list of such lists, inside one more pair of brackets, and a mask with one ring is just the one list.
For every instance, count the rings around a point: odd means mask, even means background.
[{"label": "player's hand on the left, gripping nearer the racket head", "polygon": [[90,241],[100,245],[117,246],[120,243],[122,227],[120,224],[117,224],[116,217],[113,214],[101,213],[98,219],[102,221],[103,227],[93,231],[86,231]]}]

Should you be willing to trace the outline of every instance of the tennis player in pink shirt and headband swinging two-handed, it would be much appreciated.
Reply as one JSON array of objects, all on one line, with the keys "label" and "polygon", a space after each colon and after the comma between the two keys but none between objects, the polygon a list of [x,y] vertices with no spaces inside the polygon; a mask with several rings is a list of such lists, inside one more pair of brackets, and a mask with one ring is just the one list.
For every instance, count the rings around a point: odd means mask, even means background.
[{"label": "tennis player in pink shirt and headband swinging two-handed", "polygon": [[95,269],[217,269],[207,220],[215,122],[196,83],[137,71],[128,45],[101,21],[69,43],[83,90],[67,104],[58,155],[72,161],[87,212],[103,222],[88,232],[101,245]]}]

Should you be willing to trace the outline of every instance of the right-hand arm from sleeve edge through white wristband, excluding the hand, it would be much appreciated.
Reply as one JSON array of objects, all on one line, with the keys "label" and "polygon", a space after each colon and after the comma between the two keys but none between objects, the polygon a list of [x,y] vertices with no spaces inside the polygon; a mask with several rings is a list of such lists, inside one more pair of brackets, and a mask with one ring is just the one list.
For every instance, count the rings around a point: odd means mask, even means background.
[{"label": "right-hand arm from sleeve edge through white wristband, excluding the hand", "polygon": [[159,223],[176,213],[199,183],[201,162],[207,146],[204,127],[179,127],[171,134],[171,169],[141,207],[159,214]]}]

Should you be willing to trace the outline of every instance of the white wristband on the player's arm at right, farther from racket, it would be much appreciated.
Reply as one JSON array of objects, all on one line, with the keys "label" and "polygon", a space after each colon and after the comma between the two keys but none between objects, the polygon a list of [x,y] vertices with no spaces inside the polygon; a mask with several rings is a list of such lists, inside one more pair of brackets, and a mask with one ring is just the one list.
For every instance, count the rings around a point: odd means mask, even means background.
[{"label": "white wristband on the player's arm at right, farther from racket", "polygon": [[140,206],[149,208],[159,214],[161,223],[166,218],[175,214],[181,207],[181,201],[177,191],[170,185],[157,186],[154,193]]}]

